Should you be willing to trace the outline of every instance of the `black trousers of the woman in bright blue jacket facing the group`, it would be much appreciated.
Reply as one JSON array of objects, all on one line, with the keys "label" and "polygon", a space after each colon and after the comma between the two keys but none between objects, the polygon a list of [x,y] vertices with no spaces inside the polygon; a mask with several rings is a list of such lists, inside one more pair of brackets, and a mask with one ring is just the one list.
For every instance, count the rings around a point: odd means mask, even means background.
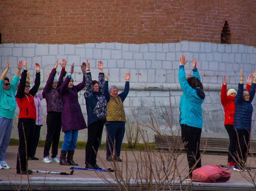
[{"label": "black trousers of the woman in bright blue jacket facing the group", "polygon": [[199,151],[201,132],[201,128],[181,124],[181,137],[183,143],[186,144],[185,151],[187,153],[190,176],[192,176],[192,169],[194,165],[194,169],[201,167],[201,155]]}]

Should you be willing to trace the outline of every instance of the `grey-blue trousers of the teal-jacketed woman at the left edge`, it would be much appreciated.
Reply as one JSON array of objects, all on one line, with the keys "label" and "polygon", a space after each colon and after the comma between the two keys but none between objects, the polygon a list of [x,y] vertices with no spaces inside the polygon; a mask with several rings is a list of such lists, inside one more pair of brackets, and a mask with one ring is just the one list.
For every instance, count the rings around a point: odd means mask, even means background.
[{"label": "grey-blue trousers of the teal-jacketed woman at the left edge", "polygon": [[0,124],[0,161],[4,161],[12,133],[13,119],[0,118]]}]

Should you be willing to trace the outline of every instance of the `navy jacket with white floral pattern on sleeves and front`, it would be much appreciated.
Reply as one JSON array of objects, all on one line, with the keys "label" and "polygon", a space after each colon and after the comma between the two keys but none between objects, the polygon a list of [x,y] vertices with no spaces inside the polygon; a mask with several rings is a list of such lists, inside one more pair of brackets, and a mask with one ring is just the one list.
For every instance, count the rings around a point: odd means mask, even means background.
[{"label": "navy jacket with white floral pattern on sleeves and front", "polygon": [[101,120],[106,120],[107,116],[107,101],[103,95],[105,77],[104,73],[99,73],[98,86],[99,91],[92,91],[92,75],[91,72],[85,74],[85,92],[84,98],[86,101],[87,124]]}]

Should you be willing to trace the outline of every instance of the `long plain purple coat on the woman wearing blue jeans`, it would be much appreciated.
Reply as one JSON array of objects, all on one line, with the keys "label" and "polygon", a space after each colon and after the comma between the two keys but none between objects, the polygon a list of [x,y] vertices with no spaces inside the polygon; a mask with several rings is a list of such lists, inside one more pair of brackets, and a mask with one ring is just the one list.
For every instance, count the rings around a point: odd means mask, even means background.
[{"label": "long plain purple coat on the woman wearing blue jeans", "polygon": [[78,85],[73,85],[72,88],[68,87],[70,79],[68,75],[58,89],[62,101],[62,132],[87,128],[78,102],[78,92],[85,87],[85,75],[83,81]]}]

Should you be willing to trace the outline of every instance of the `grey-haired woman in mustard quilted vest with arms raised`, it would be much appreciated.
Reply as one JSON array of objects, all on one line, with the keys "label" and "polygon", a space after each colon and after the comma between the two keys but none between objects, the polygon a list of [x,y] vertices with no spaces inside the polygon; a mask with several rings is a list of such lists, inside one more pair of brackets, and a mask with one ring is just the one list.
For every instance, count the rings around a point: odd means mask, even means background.
[{"label": "grey-haired woman in mustard quilted vest with arms raised", "polygon": [[[121,145],[123,142],[125,134],[125,110],[123,102],[129,93],[129,79],[130,73],[126,73],[125,76],[125,89],[122,93],[118,94],[118,88],[115,85],[112,85],[108,88],[108,77],[105,75],[105,85],[104,85],[104,96],[107,100],[107,122],[106,122],[106,131],[107,131],[107,161],[119,161]],[[114,143],[115,145],[115,156],[112,158]]]}]

